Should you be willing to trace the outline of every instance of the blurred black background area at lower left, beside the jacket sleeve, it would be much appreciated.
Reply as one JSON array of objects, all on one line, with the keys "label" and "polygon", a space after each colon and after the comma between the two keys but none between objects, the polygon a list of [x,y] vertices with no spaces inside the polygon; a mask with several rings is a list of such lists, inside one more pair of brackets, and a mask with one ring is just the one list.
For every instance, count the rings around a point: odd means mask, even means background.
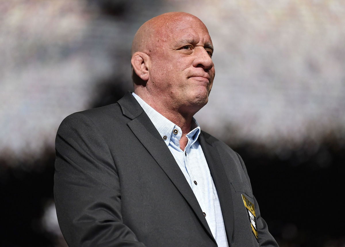
[{"label": "blurred black background area at lower left, beside the jacket sleeve", "polygon": [[[0,161],[0,246],[55,246],[58,236],[43,228],[45,206],[53,201],[55,153],[46,150],[37,160],[29,161],[32,170],[9,167]],[[28,161],[21,161],[23,163]]]}]

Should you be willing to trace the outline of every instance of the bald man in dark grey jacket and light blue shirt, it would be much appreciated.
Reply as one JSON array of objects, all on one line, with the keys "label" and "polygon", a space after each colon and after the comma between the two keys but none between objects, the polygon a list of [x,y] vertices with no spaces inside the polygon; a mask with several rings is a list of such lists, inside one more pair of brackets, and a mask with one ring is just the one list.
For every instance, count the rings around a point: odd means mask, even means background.
[{"label": "bald man in dark grey jacket and light blue shirt", "polygon": [[197,17],[155,17],[134,37],[134,93],[62,122],[54,192],[69,246],[277,246],[242,159],[193,118],[212,53]]}]

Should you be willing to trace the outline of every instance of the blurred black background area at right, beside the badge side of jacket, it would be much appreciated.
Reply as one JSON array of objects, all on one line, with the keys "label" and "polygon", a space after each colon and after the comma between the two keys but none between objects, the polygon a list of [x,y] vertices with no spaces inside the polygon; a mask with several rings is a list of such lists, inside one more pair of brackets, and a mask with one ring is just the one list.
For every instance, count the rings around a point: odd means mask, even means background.
[{"label": "blurred black background area at right, beside the badge side of jacket", "polygon": [[244,144],[243,157],[260,211],[280,246],[345,246],[345,145],[325,137],[313,154],[267,155]]}]

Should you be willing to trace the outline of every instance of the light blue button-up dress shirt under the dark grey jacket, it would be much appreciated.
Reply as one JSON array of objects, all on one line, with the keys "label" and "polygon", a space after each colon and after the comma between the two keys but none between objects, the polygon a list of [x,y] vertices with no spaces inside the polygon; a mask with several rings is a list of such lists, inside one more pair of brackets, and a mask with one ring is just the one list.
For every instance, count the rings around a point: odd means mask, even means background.
[{"label": "light blue button-up dress shirt under the dark grey jacket", "polygon": [[179,142],[182,136],[181,128],[150,107],[138,95],[135,93],[132,93],[132,95],[136,98],[142,109],[144,109],[168,146],[171,154],[174,156],[190,188],[193,190],[201,210],[203,210],[218,247],[228,247],[216,187],[211,177],[204,152],[198,141],[200,134],[199,124],[193,118],[194,126],[192,128],[195,128],[187,134],[188,142],[183,151],[180,149]]}]

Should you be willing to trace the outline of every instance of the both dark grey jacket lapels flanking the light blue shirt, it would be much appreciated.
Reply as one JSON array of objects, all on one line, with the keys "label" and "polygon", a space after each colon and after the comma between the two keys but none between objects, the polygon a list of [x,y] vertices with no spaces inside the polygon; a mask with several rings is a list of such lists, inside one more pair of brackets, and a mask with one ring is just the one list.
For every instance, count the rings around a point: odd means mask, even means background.
[{"label": "both dark grey jacket lapels flanking the light blue shirt", "polygon": [[[169,148],[159,135],[159,132],[152,124],[149,117],[146,115],[145,111],[139,105],[138,101],[130,92],[127,92],[126,95],[118,101],[118,104],[122,109],[122,113],[131,119],[127,123],[128,127],[139,139],[141,144],[145,146],[162,170],[164,170],[172,183],[174,183],[181,195],[194,210],[195,215],[205,227],[209,236],[215,241],[193,190],[191,190]],[[199,142],[217,189],[225,230],[230,246],[230,243],[233,242],[234,239],[234,207],[231,190],[229,189],[230,182],[225,174],[224,164],[220,158],[219,152],[214,145],[216,141],[216,138],[203,131],[202,134],[199,135]]]}]

